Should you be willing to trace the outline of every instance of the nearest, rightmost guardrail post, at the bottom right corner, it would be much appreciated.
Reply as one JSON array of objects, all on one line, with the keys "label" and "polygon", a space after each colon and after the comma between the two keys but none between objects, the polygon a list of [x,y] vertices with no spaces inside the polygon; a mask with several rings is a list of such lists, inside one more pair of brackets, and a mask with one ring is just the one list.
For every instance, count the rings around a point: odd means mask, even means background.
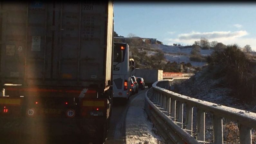
[{"label": "nearest, rightmost guardrail post, at the bottom right corner", "polygon": [[238,123],[238,128],[239,128],[239,139],[240,139],[240,144],[251,144],[251,128],[239,124]]}]

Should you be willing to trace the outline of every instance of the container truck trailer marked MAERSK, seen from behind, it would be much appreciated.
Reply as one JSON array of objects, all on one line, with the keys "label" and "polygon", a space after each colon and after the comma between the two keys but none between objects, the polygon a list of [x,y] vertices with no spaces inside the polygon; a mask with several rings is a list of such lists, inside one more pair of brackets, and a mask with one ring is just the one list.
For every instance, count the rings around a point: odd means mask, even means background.
[{"label": "container truck trailer marked MAERSK, seen from behind", "polygon": [[113,97],[113,2],[1,2],[0,12],[0,140],[9,132],[103,143]]}]

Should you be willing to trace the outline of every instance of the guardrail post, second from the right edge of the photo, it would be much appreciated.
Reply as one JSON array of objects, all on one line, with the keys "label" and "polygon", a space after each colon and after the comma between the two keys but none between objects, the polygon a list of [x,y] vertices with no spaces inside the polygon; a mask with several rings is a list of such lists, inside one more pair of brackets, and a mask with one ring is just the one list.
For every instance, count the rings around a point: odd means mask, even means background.
[{"label": "guardrail post, second from the right edge of the photo", "polygon": [[213,139],[215,144],[223,144],[222,117],[213,115]]}]

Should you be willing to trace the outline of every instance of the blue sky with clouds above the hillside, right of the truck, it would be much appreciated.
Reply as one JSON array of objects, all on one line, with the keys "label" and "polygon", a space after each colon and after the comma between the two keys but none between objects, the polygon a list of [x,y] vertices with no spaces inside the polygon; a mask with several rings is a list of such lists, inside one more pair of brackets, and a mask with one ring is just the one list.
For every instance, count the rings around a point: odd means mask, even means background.
[{"label": "blue sky with clouds above the hillside, right of the truck", "polygon": [[184,46],[205,37],[256,51],[256,3],[114,2],[114,22],[114,31],[125,37],[133,33]]}]

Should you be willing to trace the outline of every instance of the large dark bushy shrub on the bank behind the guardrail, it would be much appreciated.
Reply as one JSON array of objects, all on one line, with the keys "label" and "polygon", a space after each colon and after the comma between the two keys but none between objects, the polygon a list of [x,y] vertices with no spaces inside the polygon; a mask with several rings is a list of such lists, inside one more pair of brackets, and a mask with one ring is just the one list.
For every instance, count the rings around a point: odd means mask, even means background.
[{"label": "large dark bushy shrub on the bank behind the guardrail", "polygon": [[228,45],[226,49],[213,51],[206,58],[209,66],[218,69],[227,85],[232,88],[232,96],[242,101],[255,100],[256,75],[255,62],[251,61],[237,44]]}]

